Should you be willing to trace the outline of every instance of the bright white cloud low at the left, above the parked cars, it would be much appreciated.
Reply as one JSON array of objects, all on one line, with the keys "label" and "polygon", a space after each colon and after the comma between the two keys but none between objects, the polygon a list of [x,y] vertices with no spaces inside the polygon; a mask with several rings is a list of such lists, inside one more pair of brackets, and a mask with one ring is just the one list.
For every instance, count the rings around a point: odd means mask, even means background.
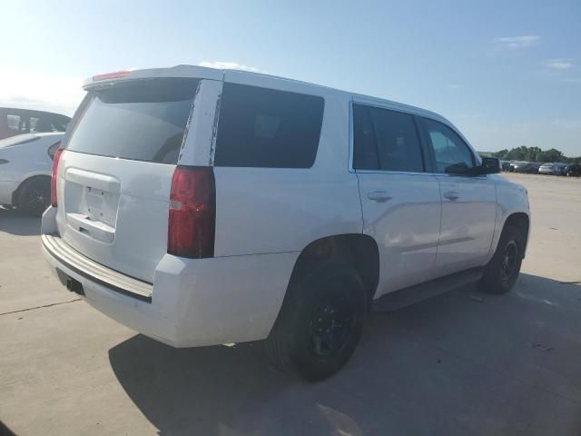
[{"label": "bright white cloud low at the left, above the parked cars", "polygon": [[72,115],[84,96],[83,79],[0,69],[0,106]]}]

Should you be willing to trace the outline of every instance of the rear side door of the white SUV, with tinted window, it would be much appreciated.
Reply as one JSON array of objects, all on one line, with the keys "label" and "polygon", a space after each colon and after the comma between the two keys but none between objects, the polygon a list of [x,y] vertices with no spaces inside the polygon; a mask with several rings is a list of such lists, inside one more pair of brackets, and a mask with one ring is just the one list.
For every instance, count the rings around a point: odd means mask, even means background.
[{"label": "rear side door of the white SUV, with tinted window", "polygon": [[439,185],[426,173],[413,115],[361,102],[351,115],[363,233],[379,247],[379,297],[434,277]]}]

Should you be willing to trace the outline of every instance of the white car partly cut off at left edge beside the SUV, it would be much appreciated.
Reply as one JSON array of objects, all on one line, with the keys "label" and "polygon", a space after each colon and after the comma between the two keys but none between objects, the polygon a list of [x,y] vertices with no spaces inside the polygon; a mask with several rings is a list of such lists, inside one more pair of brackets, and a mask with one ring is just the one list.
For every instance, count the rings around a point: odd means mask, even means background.
[{"label": "white car partly cut off at left edge beside the SUV", "polygon": [[0,204],[40,216],[50,204],[54,153],[64,133],[0,141]]}]

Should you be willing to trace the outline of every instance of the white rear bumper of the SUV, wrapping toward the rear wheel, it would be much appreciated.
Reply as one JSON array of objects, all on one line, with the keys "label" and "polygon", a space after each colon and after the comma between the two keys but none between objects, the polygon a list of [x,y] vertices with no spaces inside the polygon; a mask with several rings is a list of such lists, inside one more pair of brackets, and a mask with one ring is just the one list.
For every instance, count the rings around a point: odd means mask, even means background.
[{"label": "white rear bumper of the SUV, wrapping toward the rear wheel", "polygon": [[[81,282],[86,302],[134,331],[174,347],[266,338],[299,255],[274,253],[199,260],[165,255],[156,268],[147,301],[136,297],[133,288],[126,292],[113,289],[113,279],[103,280],[104,272],[101,277],[93,275],[88,266],[78,266],[84,265],[83,259],[71,263],[59,256],[54,241],[45,242],[47,235],[43,235],[46,261],[54,272],[58,270],[61,276],[64,273]],[[125,283],[135,280],[113,270],[107,274],[117,283],[121,279]]]}]

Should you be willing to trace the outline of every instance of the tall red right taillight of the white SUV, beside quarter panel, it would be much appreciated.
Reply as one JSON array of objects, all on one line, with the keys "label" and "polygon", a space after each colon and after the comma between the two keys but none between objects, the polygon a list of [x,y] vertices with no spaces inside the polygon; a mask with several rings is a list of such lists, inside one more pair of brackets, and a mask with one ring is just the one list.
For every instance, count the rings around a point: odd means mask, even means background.
[{"label": "tall red right taillight of the white SUV, beside quarter panel", "polygon": [[170,192],[167,253],[194,259],[213,257],[215,227],[212,167],[176,167]]}]

